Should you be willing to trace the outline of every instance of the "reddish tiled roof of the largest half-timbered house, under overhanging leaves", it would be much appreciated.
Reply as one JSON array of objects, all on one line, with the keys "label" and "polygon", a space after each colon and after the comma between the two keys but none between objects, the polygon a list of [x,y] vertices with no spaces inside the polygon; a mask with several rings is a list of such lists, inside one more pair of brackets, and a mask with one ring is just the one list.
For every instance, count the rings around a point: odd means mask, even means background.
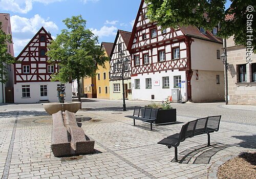
[{"label": "reddish tiled roof of the largest half-timbered house, under overhanging leaves", "polygon": [[212,35],[210,31],[206,31],[206,34],[203,34],[199,31],[198,28],[194,26],[179,27],[179,28],[184,33],[184,35],[222,43],[222,39]]}]

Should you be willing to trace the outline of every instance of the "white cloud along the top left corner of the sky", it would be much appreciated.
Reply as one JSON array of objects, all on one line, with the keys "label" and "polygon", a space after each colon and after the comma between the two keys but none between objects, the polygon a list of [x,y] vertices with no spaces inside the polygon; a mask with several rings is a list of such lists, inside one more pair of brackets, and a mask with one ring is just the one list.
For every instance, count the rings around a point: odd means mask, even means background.
[{"label": "white cloud along the top left corner of the sky", "polygon": [[34,2],[50,4],[63,0],[0,0],[0,9],[26,14],[33,8]]}]

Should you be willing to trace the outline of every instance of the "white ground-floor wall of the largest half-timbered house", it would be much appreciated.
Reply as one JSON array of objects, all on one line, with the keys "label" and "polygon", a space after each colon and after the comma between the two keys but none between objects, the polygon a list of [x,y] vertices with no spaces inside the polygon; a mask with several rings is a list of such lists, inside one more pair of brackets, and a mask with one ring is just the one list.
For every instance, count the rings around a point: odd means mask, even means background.
[{"label": "white ground-floor wall of the largest half-timbered house", "polygon": [[[163,88],[162,77],[169,77],[169,88]],[[132,77],[132,99],[133,100],[146,100],[146,101],[162,101],[168,96],[172,96],[172,89],[174,88],[174,76],[181,76],[181,81],[185,81],[182,83],[181,88],[181,96],[182,100],[186,101],[186,73],[185,71],[162,71],[161,73],[156,72],[155,74],[139,74],[138,76]],[[146,89],[146,78],[152,79],[152,88]],[[140,79],[140,89],[135,89],[135,79]],[[155,85],[154,81],[159,80],[159,85]],[[152,100],[151,96],[155,95],[155,99]]]}]

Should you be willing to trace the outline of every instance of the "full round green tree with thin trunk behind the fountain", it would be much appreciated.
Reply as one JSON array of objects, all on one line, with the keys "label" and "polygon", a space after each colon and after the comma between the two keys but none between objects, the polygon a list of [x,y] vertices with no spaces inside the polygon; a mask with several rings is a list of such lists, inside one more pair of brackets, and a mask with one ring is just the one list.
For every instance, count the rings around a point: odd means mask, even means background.
[{"label": "full round green tree with thin trunk behind the fountain", "polygon": [[67,83],[76,79],[78,83],[78,100],[80,97],[80,79],[94,76],[97,64],[104,66],[109,60],[97,45],[98,37],[86,29],[86,20],[81,15],[63,20],[68,29],[61,30],[49,45],[48,62],[60,65],[59,73],[52,75],[52,81]]}]

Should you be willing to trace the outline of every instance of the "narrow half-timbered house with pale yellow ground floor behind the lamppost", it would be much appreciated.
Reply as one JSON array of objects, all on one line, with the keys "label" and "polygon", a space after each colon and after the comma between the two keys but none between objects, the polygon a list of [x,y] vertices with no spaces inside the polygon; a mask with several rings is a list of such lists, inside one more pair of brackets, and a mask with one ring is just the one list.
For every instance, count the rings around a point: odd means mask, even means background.
[{"label": "narrow half-timbered house with pale yellow ground floor behind the lamppost", "polygon": [[[110,60],[110,99],[122,99],[122,75],[124,79],[124,97],[132,99],[132,83],[131,83],[131,56],[127,50],[131,32],[122,30],[117,31],[114,46],[111,52]],[[128,65],[118,68],[117,61],[124,59],[130,60]]]}]

